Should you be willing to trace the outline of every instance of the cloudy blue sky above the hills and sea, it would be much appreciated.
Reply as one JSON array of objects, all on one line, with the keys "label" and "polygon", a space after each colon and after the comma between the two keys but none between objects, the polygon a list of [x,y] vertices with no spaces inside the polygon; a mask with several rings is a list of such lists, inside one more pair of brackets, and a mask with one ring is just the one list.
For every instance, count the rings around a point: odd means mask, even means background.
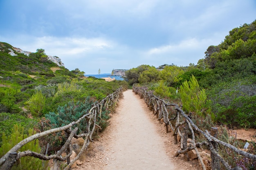
[{"label": "cloudy blue sky above the hills and sea", "polygon": [[0,0],[0,42],[69,70],[188,66],[256,19],[255,0]]}]

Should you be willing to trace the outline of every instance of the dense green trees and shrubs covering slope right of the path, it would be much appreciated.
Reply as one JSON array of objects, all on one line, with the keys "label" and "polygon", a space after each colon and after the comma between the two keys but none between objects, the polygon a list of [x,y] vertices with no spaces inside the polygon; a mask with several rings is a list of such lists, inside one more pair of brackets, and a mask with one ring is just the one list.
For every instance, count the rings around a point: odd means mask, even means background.
[{"label": "dense green trees and shrubs covering slope right of the path", "polygon": [[[219,45],[209,46],[198,65],[178,67],[164,64],[158,69],[141,65],[126,72],[129,85],[137,83],[163,98],[176,99],[177,102],[181,99],[186,112],[194,110],[200,113],[197,104],[193,103],[198,95],[191,98],[191,94],[184,93],[184,86],[186,91],[192,91],[188,83],[192,76],[198,82],[198,91],[205,91],[207,97],[204,98],[207,102],[199,108],[204,111],[211,108],[213,121],[256,128],[256,20],[229,31]],[[174,89],[180,86],[175,95]],[[188,102],[191,106],[186,105],[186,97],[191,99]]]}]

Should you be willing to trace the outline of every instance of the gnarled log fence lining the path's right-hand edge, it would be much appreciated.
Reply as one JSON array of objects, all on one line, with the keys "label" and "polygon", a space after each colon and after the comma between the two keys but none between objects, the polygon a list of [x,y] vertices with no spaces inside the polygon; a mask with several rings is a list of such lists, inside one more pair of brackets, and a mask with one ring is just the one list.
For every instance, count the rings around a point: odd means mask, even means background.
[{"label": "gnarled log fence lining the path's right-hand edge", "polygon": [[[256,161],[256,155],[253,155],[249,152],[245,152],[243,150],[239,150],[238,148],[232,146],[231,144],[227,144],[223,141],[218,140],[217,137],[217,128],[211,128],[211,133],[207,130],[203,132],[198,126],[196,126],[193,121],[191,120],[191,113],[189,115],[186,115],[182,108],[178,104],[170,104],[169,102],[165,102],[164,99],[160,99],[159,97],[149,93],[144,88],[139,88],[133,86],[133,92],[135,94],[140,95],[141,98],[144,99],[148,107],[150,107],[153,110],[153,114],[156,115],[157,120],[161,123],[161,120],[164,122],[164,126],[166,127],[166,132],[168,133],[168,128],[171,128],[171,131],[173,132],[174,141],[177,144],[177,136],[180,136],[180,147],[181,150],[178,150],[174,156],[178,156],[180,154],[184,154],[186,159],[188,158],[187,153],[190,150],[195,150],[196,155],[198,156],[198,160],[200,161],[203,170],[206,170],[206,167],[204,165],[204,162],[200,156],[200,153],[198,151],[198,148],[200,148],[202,145],[206,145],[209,147],[209,150],[211,151],[211,169],[212,170],[220,170],[220,163],[225,167],[227,170],[242,170],[240,167],[231,168],[229,163],[227,163],[224,158],[222,158],[218,152],[218,145],[223,145],[232,151],[236,152],[239,155],[242,155],[246,158],[252,159],[253,161]],[[172,111],[168,111],[172,110]],[[174,117],[171,117],[174,116]],[[171,121],[175,121],[175,124],[171,124]],[[183,126],[181,126],[183,125]],[[183,127],[181,129],[181,127]],[[195,132],[194,130],[203,135],[204,138],[207,141],[203,142],[195,142]],[[192,141],[190,145],[188,146],[188,133],[191,132],[192,135]],[[181,133],[183,132],[183,133]],[[192,144],[192,145],[191,145]]]}]

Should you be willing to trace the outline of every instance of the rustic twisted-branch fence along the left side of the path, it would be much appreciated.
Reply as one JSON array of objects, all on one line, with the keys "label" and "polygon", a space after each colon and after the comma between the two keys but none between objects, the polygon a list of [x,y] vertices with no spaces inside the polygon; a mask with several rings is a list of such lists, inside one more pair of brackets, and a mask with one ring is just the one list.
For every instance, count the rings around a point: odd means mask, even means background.
[{"label": "rustic twisted-branch fence along the left side of the path", "polygon": [[[87,114],[83,115],[78,120],[73,121],[70,124],[67,124],[66,126],[46,130],[44,132],[37,133],[35,135],[32,135],[32,136],[27,137],[26,139],[20,141],[16,146],[11,148],[11,150],[9,150],[3,157],[0,158],[0,170],[10,170],[16,161],[18,161],[21,157],[26,157],[26,156],[32,156],[32,157],[36,157],[36,158],[39,158],[42,160],[53,159],[54,160],[54,168],[53,168],[54,170],[59,169],[57,161],[67,161],[67,166],[65,167],[64,170],[69,170],[71,168],[71,166],[74,164],[74,162],[77,161],[79,159],[79,157],[81,156],[81,154],[88,148],[90,142],[93,142],[92,135],[94,134],[95,128],[101,129],[101,127],[96,123],[96,121],[97,121],[98,117],[99,117],[99,119],[101,119],[102,108],[103,107],[110,108],[110,107],[114,106],[115,104],[117,104],[117,102],[119,102],[119,97],[122,94],[122,92],[123,92],[122,87],[118,88],[117,91],[108,95],[101,102],[94,103],[92,108],[90,108],[90,111]],[[76,128],[72,129],[72,127],[74,125],[78,124],[83,119],[86,120],[87,131],[86,131],[86,133],[76,135],[78,128],[76,127]],[[27,144],[30,141],[39,139],[40,137],[44,137],[46,135],[50,135],[50,134],[53,134],[56,132],[62,132],[62,131],[65,131],[67,139],[65,141],[65,144],[61,147],[61,149],[54,155],[47,156],[47,154],[43,155],[43,154],[40,154],[37,152],[32,152],[30,150],[18,152],[18,150],[22,146],[24,146],[25,144]],[[70,161],[70,156],[72,155],[72,150],[73,150],[72,145],[71,145],[71,140],[73,137],[76,139],[78,139],[79,137],[84,137],[85,140],[84,140],[84,143],[83,143],[83,146],[82,146],[80,152],[77,154],[77,156],[72,161]],[[65,157],[62,157],[61,155],[64,151],[67,153],[67,155]]]}]

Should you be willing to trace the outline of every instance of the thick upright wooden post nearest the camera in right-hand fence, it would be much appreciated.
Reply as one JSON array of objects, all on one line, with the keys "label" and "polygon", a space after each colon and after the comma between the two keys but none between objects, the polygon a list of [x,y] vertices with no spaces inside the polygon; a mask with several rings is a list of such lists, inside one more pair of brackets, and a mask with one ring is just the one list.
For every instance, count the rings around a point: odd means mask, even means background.
[{"label": "thick upright wooden post nearest the camera in right-hand fence", "polygon": [[[211,135],[215,138],[218,136],[218,128],[211,128]],[[213,147],[218,152],[218,143],[216,141],[212,141]],[[220,161],[218,157],[216,157],[212,152],[211,152],[211,169],[212,170],[220,170]]]}]

